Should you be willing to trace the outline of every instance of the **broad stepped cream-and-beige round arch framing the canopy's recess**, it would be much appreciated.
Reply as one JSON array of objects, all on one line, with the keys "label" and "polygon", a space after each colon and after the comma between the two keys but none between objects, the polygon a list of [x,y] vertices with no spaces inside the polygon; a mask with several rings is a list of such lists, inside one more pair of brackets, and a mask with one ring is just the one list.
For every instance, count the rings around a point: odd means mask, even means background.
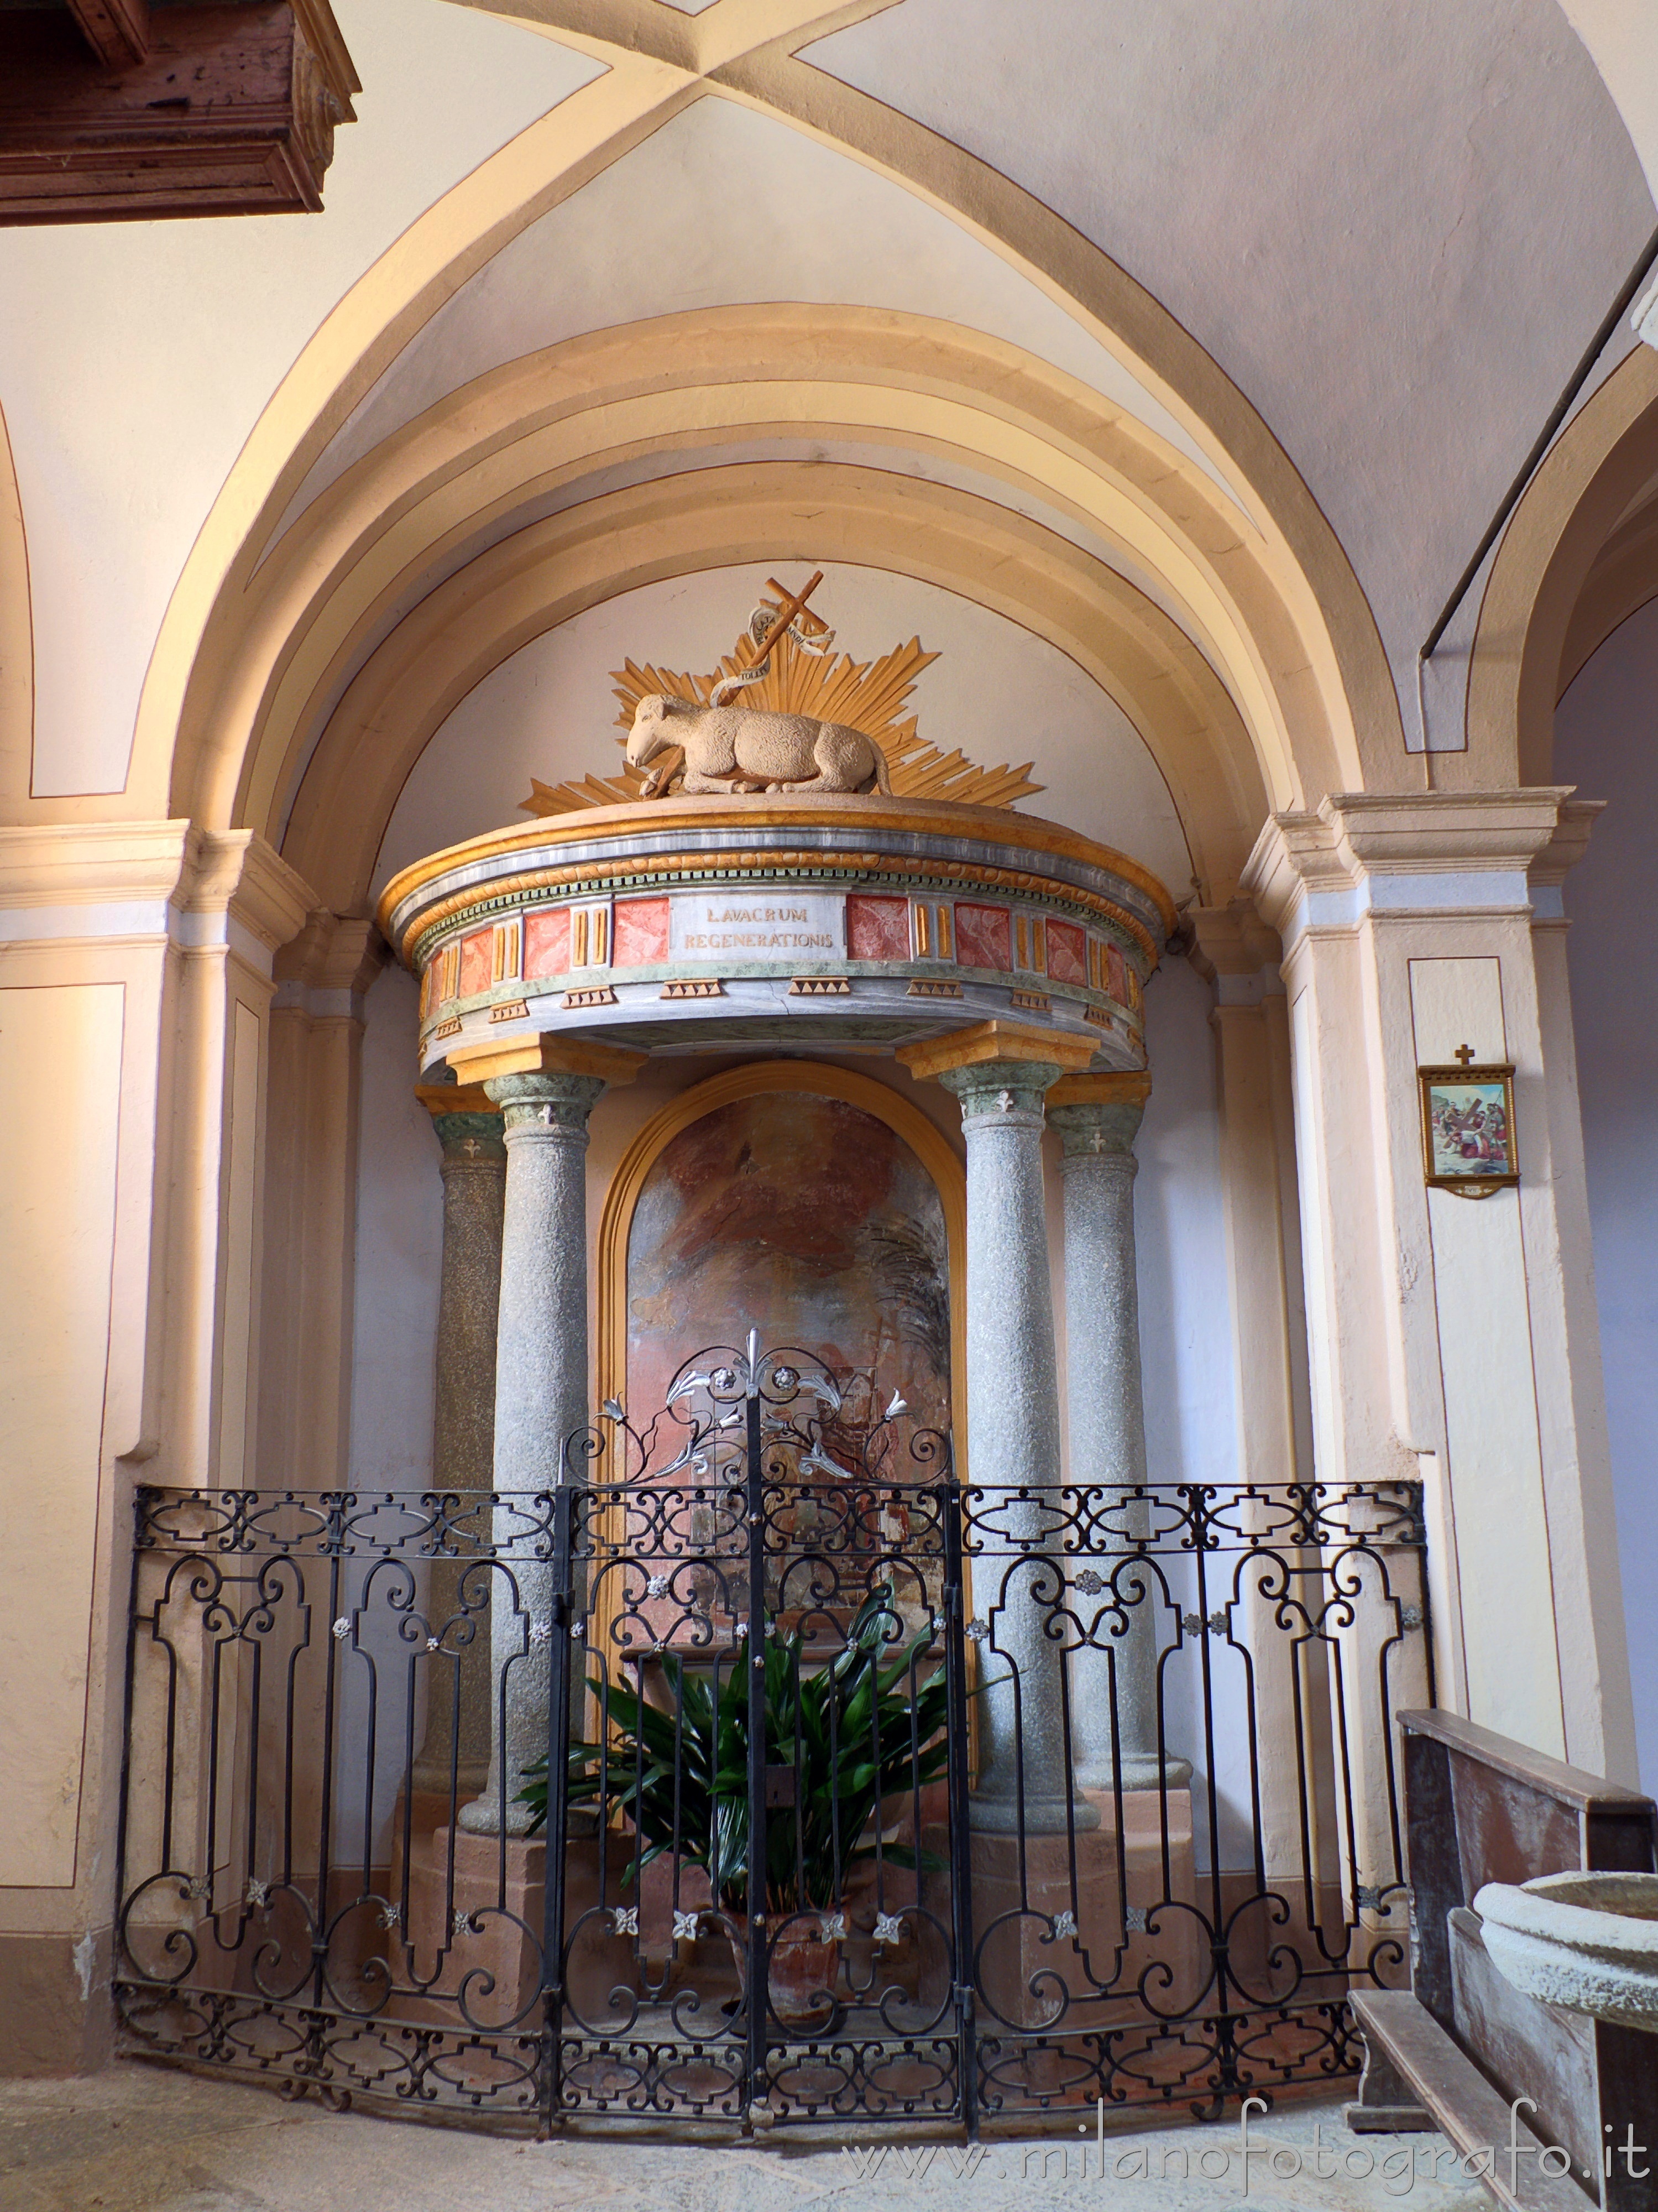
[{"label": "broad stepped cream-and-beige round arch framing the canopy's recess", "polygon": [[[676,487],[721,447],[752,451],[756,440],[873,445],[891,449],[893,469],[829,465],[825,476],[820,467],[791,482],[800,507],[791,515],[778,509],[787,476],[749,460],[723,476],[699,540]],[[1145,737],[1187,821],[1196,872],[1225,894],[1267,805],[1298,803],[1309,761],[1315,787],[1346,787],[1362,770],[1236,515],[1198,471],[1198,500],[1183,498],[1174,515],[1152,442],[1017,347],[891,312],[721,307],[566,341],[436,403],[274,542],[234,608],[221,611],[223,653],[206,657],[192,686],[172,805],[256,827],[323,898],[356,905],[371,854],[367,865],[363,854],[329,865],[343,854],[321,852],[318,810],[378,841],[418,745],[438,728],[431,701],[451,708],[537,628],[615,591],[688,568],[822,553],[944,582],[1061,644]],[[904,473],[926,460],[970,469],[986,487],[975,500],[977,546],[951,513],[962,493]],[[674,511],[674,529],[652,549],[617,540],[621,495],[592,489],[619,469],[643,469],[657,487],[650,498]],[[838,546],[802,535],[802,518],[829,491]],[[1004,500],[1037,504],[1105,557]],[[643,515],[630,520],[643,526]],[[962,538],[953,553],[940,544],[951,533]],[[1006,575],[984,557],[986,533],[1017,546]],[[575,546],[586,557],[570,571]],[[1174,615],[1127,584],[1112,553],[1156,577]],[[497,622],[500,573],[531,560],[542,566],[544,619],[515,606],[511,622]],[[1048,584],[1066,573],[1052,604],[1039,573]],[[391,712],[389,670],[429,646],[438,626],[444,684],[429,686],[409,723]],[[458,626],[469,630],[464,653]],[[1119,657],[1125,630],[1134,646]],[[455,688],[460,668],[466,681]],[[396,768],[391,781],[363,763],[365,737]],[[343,805],[347,763],[356,785]]]}]

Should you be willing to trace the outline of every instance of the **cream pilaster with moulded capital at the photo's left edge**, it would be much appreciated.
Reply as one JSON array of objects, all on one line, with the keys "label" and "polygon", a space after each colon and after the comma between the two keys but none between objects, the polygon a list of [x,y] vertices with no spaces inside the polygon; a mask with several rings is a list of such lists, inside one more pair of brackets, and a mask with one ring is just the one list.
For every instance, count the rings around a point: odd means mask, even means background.
[{"label": "cream pilaster with moulded capital at the photo's left edge", "polygon": [[[7,2070],[77,2070],[108,2039],[130,1484],[241,1471],[270,969],[307,905],[248,834],[0,830],[0,1217],[29,1310],[57,1332],[42,1356],[20,1318],[15,1387],[0,1376],[13,1520],[35,1531],[15,1582],[0,1575],[20,1717],[0,1761]],[[29,1221],[49,1232],[40,1263]]]}]

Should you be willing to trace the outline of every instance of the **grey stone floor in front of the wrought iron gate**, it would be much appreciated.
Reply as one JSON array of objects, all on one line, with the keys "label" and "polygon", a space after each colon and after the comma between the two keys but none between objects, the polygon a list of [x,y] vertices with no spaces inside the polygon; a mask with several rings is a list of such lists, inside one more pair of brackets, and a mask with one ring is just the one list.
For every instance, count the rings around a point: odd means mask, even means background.
[{"label": "grey stone floor in front of the wrought iron gate", "polygon": [[[1430,2179],[1435,2152],[1452,2170],[1441,2137],[1355,2137],[1335,2104],[1256,2121],[1251,2139],[1267,2154],[1249,2161],[1247,2197],[1236,2124],[1110,2132],[1101,2188],[1092,2130],[1088,2139],[995,2139],[973,2152],[915,2141],[880,2150],[871,2130],[856,2128],[844,2143],[758,2148],[617,2137],[524,2143],[113,2066],[82,2081],[0,2081],[0,2212],[1010,2212],[1101,2199],[1123,2212],[1490,2205],[1477,2183]],[[1178,2179],[1180,2152],[1187,2181]],[[1349,2163],[1355,2172],[1344,2172]]]}]

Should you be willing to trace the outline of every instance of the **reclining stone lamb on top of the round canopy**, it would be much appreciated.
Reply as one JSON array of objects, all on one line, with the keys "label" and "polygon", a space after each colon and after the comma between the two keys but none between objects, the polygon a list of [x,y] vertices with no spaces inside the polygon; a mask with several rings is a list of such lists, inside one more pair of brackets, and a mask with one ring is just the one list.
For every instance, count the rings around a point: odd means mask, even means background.
[{"label": "reclining stone lamb on top of the round canopy", "polygon": [[[749,706],[690,706],[646,692],[628,732],[628,765],[670,745],[685,752],[685,792],[889,792],[886,754],[844,721]],[[663,779],[665,781],[665,779]],[[650,790],[659,796],[659,790]]]}]

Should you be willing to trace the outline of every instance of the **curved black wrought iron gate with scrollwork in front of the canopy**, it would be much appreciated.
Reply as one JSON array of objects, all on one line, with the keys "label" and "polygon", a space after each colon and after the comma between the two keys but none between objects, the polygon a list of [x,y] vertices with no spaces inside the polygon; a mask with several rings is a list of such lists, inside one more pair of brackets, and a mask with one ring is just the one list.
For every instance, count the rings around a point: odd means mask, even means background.
[{"label": "curved black wrought iron gate with scrollwork in front of the canopy", "polygon": [[1415,1486],[993,1473],[749,1340],[553,1493],[144,1489],[124,2048],[539,2126],[1351,2070],[1406,1975]]}]

